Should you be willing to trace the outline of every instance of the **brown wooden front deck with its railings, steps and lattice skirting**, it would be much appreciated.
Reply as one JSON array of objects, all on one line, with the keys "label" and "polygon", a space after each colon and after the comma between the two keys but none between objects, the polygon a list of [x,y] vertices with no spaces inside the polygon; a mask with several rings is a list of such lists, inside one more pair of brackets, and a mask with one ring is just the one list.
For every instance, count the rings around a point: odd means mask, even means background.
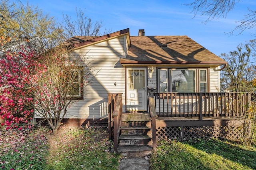
[{"label": "brown wooden front deck with its railings, steps and lattice skirting", "polygon": [[[169,97],[166,94],[156,96],[153,93],[148,93],[149,113],[122,113],[122,93],[108,94],[108,130],[109,138],[114,140],[115,152],[120,152],[120,144],[122,146],[132,146],[136,143],[144,146],[150,142],[152,142],[152,150],[156,152],[157,138],[226,138],[238,140],[241,137],[243,119],[236,116],[242,116],[245,110],[238,107],[238,105],[234,105],[234,101],[236,101],[235,103],[240,101],[240,95],[230,95],[229,93],[228,95],[226,93],[175,93],[174,97],[172,94],[167,94]],[[192,99],[192,96],[194,99],[194,96],[196,96],[198,105],[191,105],[189,100],[184,103],[184,96],[186,99]],[[220,99],[225,96],[223,102],[220,100],[219,103],[219,96]],[[226,99],[226,96],[228,99]],[[232,103],[226,105],[226,101],[230,101],[229,96],[232,96]],[[177,97],[179,102],[177,107],[175,104],[175,108],[178,108],[178,110],[173,110],[173,104],[168,105],[168,99],[172,100]],[[158,102],[155,102],[155,99],[158,99]],[[183,103],[181,99],[183,99]],[[212,103],[207,103],[209,100],[206,99],[216,100],[210,101]],[[242,101],[248,105],[249,99],[250,96],[247,95],[244,96]],[[192,106],[195,106],[196,112],[190,109]],[[172,111],[175,111],[175,114]],[[166,115],[166,113],[169,114]],[[123,138],[123,134],[129,135],[129,139]],[[148,135],[147,140],[144,139],[144,134],[150,135]],[[136,140],[130,140],[131,136],[134,135],[136,135]],[[137,140],[137,138],[140,140]],[[151,140],[149,141],[148,139]],[[138,148],[129,148],[128,150],[132,153],[141,152]],[[142,150],[148,151],[144,148]]]}]

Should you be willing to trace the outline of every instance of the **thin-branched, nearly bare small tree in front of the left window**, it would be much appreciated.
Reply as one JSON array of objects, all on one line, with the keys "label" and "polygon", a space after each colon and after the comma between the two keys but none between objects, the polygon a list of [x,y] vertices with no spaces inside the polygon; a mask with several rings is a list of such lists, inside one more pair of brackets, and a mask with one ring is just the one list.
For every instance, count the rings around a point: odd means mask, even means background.
[{"label": "thin-branched, nearly bare small tree in front of the left window", "polygon": [[86,56],[78,57],[66,51],[48,52],[39,67],[32,91],[35,117],[46,121],[55,134],[68,108],[86,95],[86,87],[94,76]]}]

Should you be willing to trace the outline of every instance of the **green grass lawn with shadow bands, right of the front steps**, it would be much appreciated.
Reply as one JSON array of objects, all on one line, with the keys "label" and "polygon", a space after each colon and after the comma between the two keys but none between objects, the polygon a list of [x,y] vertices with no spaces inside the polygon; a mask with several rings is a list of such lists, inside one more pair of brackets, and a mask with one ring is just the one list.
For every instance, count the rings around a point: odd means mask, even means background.
[{"label": "green grass lawn with shadow bands, right of the front steps", "polygon": [[159,170],[255,170],[256,148],[218,139],[161,140],[150,164]]}]

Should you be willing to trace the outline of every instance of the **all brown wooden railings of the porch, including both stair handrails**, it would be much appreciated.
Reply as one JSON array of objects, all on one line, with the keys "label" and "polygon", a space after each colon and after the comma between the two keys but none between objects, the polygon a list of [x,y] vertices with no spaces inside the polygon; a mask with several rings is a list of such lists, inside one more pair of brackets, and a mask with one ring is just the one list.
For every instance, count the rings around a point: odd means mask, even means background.
[{"label": "all brown wooden railings of the porch, including both stair handrails", "polygon": [[[237,117],[249,106],[249,93],[148,93],[148,112],[156,150],[156,117]],[[117,152],[122,123],[122,93],[108,94],[109,138]]]}]

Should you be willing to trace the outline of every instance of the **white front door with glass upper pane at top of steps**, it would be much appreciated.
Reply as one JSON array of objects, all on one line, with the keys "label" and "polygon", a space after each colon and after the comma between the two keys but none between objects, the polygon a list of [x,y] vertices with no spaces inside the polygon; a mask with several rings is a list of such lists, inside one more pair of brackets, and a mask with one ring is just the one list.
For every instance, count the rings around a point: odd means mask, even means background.
[{"label": "white front door with glass upper pane at top of steps", "polygon": [[146,68],[126,68],[126,110],[146,111]]}]

